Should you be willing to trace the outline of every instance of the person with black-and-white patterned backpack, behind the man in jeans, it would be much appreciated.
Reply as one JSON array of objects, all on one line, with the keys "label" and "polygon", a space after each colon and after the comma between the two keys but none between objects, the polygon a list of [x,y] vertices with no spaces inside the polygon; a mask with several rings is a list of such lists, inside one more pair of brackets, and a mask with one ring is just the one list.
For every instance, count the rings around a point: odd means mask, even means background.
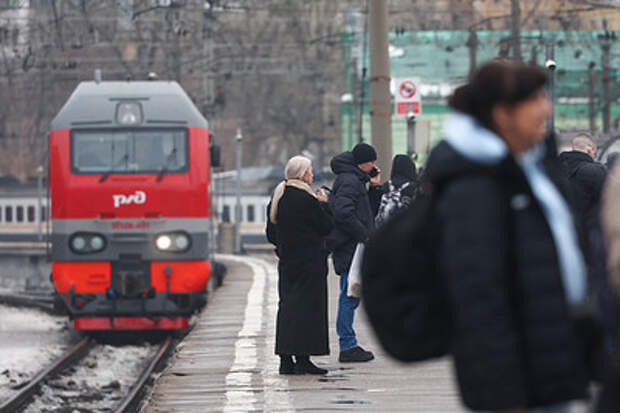
[{"label": "person with black-and-white patterned backpack, behind the man in jeans", "polygon": [[382,186],[383,195],[375,218],[377,226],[413,202],[417,193],[416,178],[415,164],[411,158],[407,155],[394,156],[390,180]]}]

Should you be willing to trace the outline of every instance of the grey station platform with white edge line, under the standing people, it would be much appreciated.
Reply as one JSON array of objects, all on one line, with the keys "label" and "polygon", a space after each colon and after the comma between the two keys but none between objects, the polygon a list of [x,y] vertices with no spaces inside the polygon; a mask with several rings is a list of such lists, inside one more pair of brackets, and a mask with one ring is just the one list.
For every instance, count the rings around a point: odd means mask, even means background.
[{"label": "grey station platform with white edge line, under the standing people", "polygon": [[362,306],[354,328],[375,354],[367,363],[339,363],[338,276],[330,272],[329,356],[312,357],[326,376],[279,375],[274,354],[277,258],[222,256],[224,285],[157,378],[142,412],[463,412],[450,362],[402,364],[380,348]]}]

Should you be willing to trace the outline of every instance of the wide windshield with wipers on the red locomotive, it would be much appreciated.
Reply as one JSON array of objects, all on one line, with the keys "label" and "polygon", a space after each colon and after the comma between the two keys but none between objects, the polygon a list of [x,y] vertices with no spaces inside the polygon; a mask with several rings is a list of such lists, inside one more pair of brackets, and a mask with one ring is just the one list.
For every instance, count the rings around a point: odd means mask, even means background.
[{"label": "wide windshield with wipers on the red locomotive", "polygon": [[187,165],[184,129],[71,132],[75,173],[175,173]]}]

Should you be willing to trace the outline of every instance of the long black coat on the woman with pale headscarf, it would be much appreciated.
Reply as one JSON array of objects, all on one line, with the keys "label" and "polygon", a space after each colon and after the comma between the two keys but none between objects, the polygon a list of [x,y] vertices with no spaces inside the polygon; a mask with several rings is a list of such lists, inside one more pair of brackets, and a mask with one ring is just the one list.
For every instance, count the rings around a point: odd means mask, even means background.
[{"label": "long black coat on the woman with pale headscarf", "polygon": [[287,186],[267,237],[277,246],[278,318],[276,354],[329,354],[327,253],[324,237],[332,229],[327,204]]}]

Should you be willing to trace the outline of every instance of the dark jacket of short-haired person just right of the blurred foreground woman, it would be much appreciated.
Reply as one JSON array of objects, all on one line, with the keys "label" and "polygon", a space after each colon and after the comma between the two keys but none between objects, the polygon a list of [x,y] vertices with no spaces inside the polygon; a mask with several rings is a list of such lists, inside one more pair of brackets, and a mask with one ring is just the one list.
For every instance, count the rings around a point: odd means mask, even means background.
[{"label": "dark jacket of short-haired person just right of the blurred foreground woman", "polygon": [[607,169],[602,164],[594,162],[588,154],[579,151],[562,152],[559,158],[566,167],[571,182],[575,213],[581,220],[584,230],[590,231],[598,225]]}]

